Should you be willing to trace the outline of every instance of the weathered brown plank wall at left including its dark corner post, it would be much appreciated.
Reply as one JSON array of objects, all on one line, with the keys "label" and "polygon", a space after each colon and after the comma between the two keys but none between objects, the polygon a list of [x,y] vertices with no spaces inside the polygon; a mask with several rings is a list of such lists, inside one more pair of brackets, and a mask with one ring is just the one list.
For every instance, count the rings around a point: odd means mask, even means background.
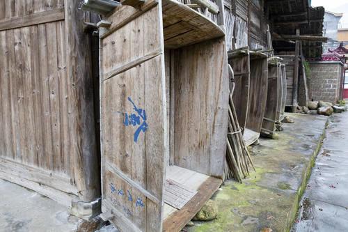
[{"label": "weathered brown plank wall at left including its dark corner post", "polygon": [[0,178],[69,205],[100,196],[100,180],[91,18],[65,1],[0,3]]}]

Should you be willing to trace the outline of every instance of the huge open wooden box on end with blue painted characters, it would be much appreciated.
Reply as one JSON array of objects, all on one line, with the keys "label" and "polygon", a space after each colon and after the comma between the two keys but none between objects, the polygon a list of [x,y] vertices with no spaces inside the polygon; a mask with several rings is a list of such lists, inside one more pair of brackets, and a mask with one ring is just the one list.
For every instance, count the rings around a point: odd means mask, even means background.
[{"label": "huge open wooden box on end with blue painted characters", "polygon": [[[97,11],[93,2],[82,8]],[[121,231],[180,231],[221,185],[225,33],[199,10],[123,1],[97,23],[102,217]]]}]

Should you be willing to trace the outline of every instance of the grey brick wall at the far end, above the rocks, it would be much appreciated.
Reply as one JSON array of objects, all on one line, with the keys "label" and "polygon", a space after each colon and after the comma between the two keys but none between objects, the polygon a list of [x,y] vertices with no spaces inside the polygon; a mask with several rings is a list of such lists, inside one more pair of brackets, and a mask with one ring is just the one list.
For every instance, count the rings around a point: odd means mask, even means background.
[{"label": "grey brick wall at the far end, above the rocks", "polygon": [[340,98],[341,63],[310,63],[312,75],[308,78],[309,99],[336,102]]}]

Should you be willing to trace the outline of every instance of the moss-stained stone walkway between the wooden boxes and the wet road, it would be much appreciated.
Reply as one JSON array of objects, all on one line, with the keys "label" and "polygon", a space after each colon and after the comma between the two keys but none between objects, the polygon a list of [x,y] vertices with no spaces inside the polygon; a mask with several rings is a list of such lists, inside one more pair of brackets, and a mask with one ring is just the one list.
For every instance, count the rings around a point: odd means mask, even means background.
[{"label": "moss-stained stone walkway between the wooden boxes and the wet road", "polygon": [[195,222],[187,231],[289,231],[306,187],[328,117],[287,114],[278,140],[260,139],[253,147],[257,172],[239,184],[229,181],[214,194],[218,217]]}]

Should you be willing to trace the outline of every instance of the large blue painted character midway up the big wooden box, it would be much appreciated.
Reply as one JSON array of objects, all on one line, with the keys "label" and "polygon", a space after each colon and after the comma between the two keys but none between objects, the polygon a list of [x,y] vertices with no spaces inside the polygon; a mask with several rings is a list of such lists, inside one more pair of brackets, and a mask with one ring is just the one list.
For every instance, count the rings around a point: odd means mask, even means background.
[{"label": "large blue painted character midway up the big wooden box", "polygon": [[[128,97],[128,100],[129,102],[132,103],[133,109],[136,111],[136,114],[128,115],[127,113],[125,113],[123,124],[125,124],[126,126],[132,125],[134,127],[139,125],[139,127],[134,132],[133,141],[136,142],[138,141],[140,132],[145,132],[145,130],[148,129],[148,123],[146,123],[146,112],[145,112],[145,109],[138,109],[138,107],[136,107],[136,105],[134,104],[131,98]],[[120,111],[118,111],[118,113],[120,113]]]}]

